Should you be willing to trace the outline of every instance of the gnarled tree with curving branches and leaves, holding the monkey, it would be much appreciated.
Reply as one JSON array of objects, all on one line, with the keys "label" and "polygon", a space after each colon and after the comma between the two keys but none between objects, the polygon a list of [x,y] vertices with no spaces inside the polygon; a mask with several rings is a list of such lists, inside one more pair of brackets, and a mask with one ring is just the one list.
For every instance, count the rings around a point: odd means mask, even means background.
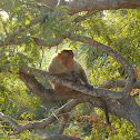
[{"label": "gnarled tree with curving branches and leaves, holding the monkey", "polygon": [[[104,37],[104,42],[101,42],[101,40],[97,41],[98,39],[96,38],[97,40],[94,40],[90,30],[87,30],[87,27],[84,27],[84,20],[90,21],[93,16],[101,17],[102,19],[106,10],[137,9],[138,7],[140,7],[139,0],[0,1],[1,11],[8,13],[8,19],[3,19],[1,16],[1,77],[4,77],[2,73],[6,70],[11,74],[18,74],[18,78],[24,82],[32,93],[46,101],[73,99],[56,110],[52,116],[46,118],[43,121],[19,124],[2,112],[0,112],[0,119],[7,120],[12,124],[16,128],[14,134],[17,134],[32,128],[44,128],[57,121],[60,117],[63,117],[63,122],[67,123],[68,116],[64,114],[82,102],[90,102],[93,107],[103,108],[99,99],[99,97],[102,97],[107,100],[110,113],[127,119],[140,133],[140,107],[132,96],[130,96],[133,89],[140,89],[140,81],[137,81],[133,66],[119,50],[109,47],[113,43],[109,36]],[[140,11],[138,10],[138,12]],[[97,30],[99,31],[98,28]],[[112,57],[127,71],[128,78],[126,80],[111,79],[104,84],[89,90],[83,86],[73,84],[70,81],[66,82],[64,79],[61,80],[51,76],[46,70],[39,69],[36,63],[39,61],[40,52],[46,50],[46,47],[56,47],[64,40],[88,44]],[[61,82],[63,86],[72,88],[76,91],[70,94],[56,93],[53,90],[44,88],[38,78]],[[114,87],[120,87],[122,90],[110,90]],[[63,131],[64,124],[60,127],[60,130]]]}]

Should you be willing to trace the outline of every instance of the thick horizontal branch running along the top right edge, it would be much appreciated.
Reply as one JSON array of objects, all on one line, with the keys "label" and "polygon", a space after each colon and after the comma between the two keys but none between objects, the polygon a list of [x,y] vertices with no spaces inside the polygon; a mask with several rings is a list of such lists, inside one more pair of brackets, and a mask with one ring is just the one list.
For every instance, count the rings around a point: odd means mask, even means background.
[{"label": "thick horizontal branch running along the top right edge", "polygon": [[81,11],[103,11],[118,9],[136,9],[140,7],[139,0],[70,0],[66,3],[71,14]]}]

